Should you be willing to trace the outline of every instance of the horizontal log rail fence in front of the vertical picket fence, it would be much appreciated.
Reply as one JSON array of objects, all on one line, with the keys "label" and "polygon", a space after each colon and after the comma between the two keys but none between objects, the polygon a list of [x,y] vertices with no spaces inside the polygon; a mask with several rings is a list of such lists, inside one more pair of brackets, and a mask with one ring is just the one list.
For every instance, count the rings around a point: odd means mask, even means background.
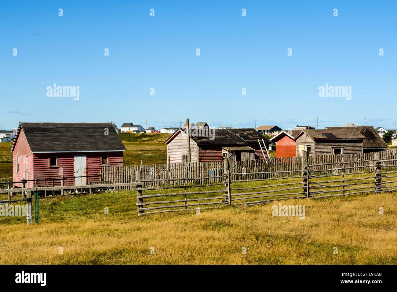
[{"label": "horizontal log rail fence in front of the vertical picket fence", "polygon": [[[317,199],[395,191],[397,159],[381,157],[381,153],[375,153],[374,159],[360,157],[360,161],[346,162],[343,156],[320,164],[315,159],[310,159],[306,151],[302,151],[299,157],[301,169],[279,170],[274,167],[270,170],[275,171],[262,172],[255,167],[250,168],[254,171],[246,172],[246,169],[235,168],[235,164],[225,159],[224,172],[219,176],[163,179],[159,182],[168,182],[169,186],[154,187],[145,187],[148,180],[143,179],[141,170],[137,170],[135,181],[138,215],[192,210],[199,212],[227,205],[257,205],[286,199]],[[212,184],[207,183],[208,179],[212,179]],[[178,185],[173,185],[172,182]],[[157,185],[153,181],[151,183]],[[189,191],[189,188],[196,190]]]}]

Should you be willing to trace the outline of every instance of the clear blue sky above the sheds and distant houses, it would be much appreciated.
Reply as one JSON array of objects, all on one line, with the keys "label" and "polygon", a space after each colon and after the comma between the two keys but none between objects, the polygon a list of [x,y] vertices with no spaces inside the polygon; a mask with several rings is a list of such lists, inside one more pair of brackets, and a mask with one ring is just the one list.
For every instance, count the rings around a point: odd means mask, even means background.
[{"label": "clear blue sky above the sheds and distant houses", "polygon": [[[395,129],[396,47],[397,1],[2,1],[0,126],[189,117],[287,129],[366,117]],[[53,83],[79,86],[79,100],[47,97]],[[326,83],[351,86],[351,100],[319,97]]]}]

